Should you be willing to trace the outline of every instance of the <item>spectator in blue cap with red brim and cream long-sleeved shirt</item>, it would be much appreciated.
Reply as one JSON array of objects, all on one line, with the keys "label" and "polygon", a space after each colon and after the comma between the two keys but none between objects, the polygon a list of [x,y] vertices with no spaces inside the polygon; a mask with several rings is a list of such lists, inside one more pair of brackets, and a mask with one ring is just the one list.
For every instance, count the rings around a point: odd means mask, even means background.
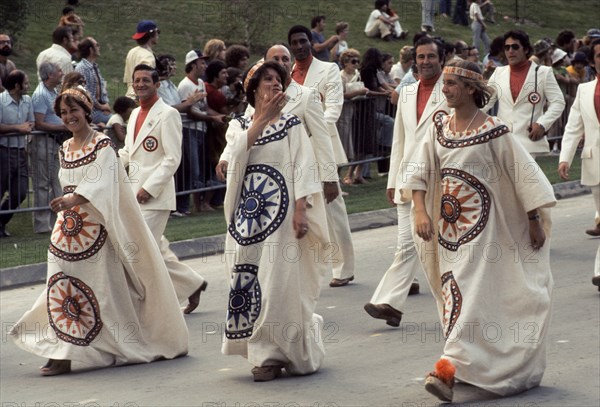
[{"label": "spectator in blue cap with red brim and cream long-sleeved shirt", "polygon": [[127,53],[125,58],[125,72],[123,74],[123,82],[127,84],[126,96],[135,99],[133,91],[132,79],[133,68],[137,65],[145,64],[152,68],[156,68],[156,57],[152,52],[152,47],[158,44],[158,35],[160,30],[156,23],[152,20],[142,20],[138,23],[136,33],[131,36],[136,40],[137,47],[133,47]]}]

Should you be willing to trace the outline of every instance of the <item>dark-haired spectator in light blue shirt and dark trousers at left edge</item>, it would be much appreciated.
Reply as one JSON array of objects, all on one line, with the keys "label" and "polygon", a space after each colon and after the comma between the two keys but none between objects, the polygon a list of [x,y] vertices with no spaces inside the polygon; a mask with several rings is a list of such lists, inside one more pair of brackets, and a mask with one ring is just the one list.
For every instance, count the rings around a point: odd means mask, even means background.
[{"label": "dark-haired spectator in light blue shirt and dark trousers at left edge", "polygon": [[[8,192],[0,210],[16,209],[28,192],[26,135],[33,129],[33,103],[27,96],[29,79],[14,70],[4,81],[6,92],[0,93],[0,197]],[[6,224],[12,213],[0,215],[0,238],[10,236]]]}]

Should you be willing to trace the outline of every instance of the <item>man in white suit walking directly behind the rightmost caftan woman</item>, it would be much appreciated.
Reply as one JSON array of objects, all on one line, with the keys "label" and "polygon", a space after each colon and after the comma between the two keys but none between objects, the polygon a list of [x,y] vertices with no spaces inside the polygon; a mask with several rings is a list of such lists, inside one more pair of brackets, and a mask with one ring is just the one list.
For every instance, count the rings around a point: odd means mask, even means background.
[{"label": "man in white suit walking directly behind the rightmost caftan woman", "polygon": [[412,167],[412,149],[436,117],[450,112],[442,94],[444,47],[430,37],[422,37],[414,49],[419,81],[400,90],[387,185],[388,200],[398,212],[398,243],[394,262],[364,307],[373,318],[384,319],[391,326],[400,325],[407,296],[418,293],[415,275],[423,270],[412,234],[412,192],[401,189],[404,174]]}]

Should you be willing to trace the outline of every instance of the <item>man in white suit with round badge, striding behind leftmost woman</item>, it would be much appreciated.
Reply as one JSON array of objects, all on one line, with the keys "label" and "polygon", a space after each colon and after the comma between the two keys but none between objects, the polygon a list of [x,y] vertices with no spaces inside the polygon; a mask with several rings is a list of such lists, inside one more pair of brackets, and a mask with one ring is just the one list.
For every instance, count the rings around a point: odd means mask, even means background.
[{"label": "man in white suit with round badge, striding behind leftmost woman", "polygon": [[159,86],[154,68],[144,64],[134,68],[133,89],[140,107],[131,113],[119,156],[123,165],[129,166],[131,188],[160,247],[177,298],[180,303],[189,300],[184,310],[189,314],[198,306],[200,293],[208,284],[179,261],[163,236],[170,212],[175,210],[173,176],[181,161],[182,133],[179,112],[158,97]]}]

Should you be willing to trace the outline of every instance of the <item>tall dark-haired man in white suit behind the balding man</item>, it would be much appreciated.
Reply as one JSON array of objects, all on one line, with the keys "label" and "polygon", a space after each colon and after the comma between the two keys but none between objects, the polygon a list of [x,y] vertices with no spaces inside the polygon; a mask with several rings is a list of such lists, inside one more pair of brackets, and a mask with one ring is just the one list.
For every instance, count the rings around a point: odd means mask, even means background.
[{"label": "tall dark-haired man in white suit behind the balding man", "polygon": [[[288,44],[296,63],[292,68],[292,79],[308,88],[316,90],[323,104],[323,113],[336,164],[348,162],[344,147],[337,131],[336,123],[344,105],[344,92],[340,70],[334,63],[323,62],[311,54],[312,34],[307,27],[296,25],[288,31]],[[336,170],[337,174],[337,170]],[[339,192],[339,185],[336,185]],[[348,213],[342,195],[326,206],[327,225],[331,240],[333,279],[330,287],[341,287],[354,280],[354,247],[348,223]]]}]

